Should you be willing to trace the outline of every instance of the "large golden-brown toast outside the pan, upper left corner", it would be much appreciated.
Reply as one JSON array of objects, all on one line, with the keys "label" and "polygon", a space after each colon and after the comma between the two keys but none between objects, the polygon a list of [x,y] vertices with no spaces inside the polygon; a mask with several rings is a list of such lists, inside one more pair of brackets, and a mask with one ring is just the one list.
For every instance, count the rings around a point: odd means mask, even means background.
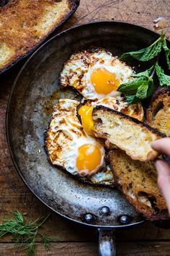
[{"label": "large golden-brown toast outside the pan, upper left corner", "polygon": [[78,5],[79,0],[17,0],[0,7],[0,72],[40,44]]}]

